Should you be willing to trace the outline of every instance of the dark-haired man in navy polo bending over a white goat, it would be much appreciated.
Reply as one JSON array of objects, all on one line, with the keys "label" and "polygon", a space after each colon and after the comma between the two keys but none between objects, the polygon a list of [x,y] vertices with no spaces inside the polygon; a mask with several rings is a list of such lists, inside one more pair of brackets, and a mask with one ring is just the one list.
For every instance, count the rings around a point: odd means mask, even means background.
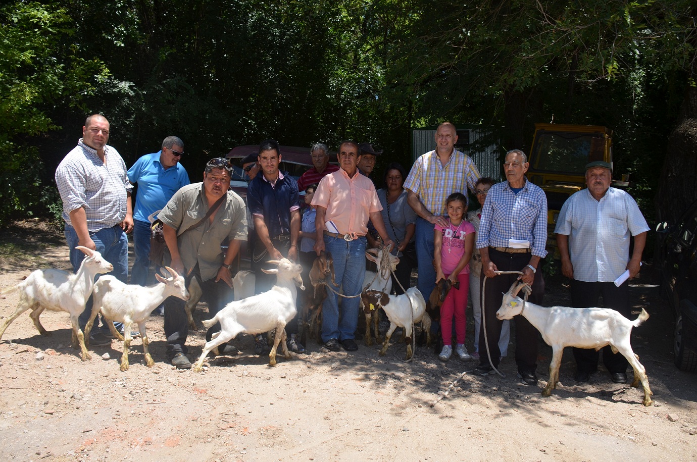
[{"label": "dark-haired man in navy polo bending over a white goat", "polygon": [[[263,293],[273,287],[275,276],[267,275],[261,268],[274,268],[266,262],[284,257],[298,260],[300,236],[300,200],[298,183],[287,171],[279,170],[281,151],[273,139],[262,141],[257,159],[261,171],[247,186],[247,207],[252,214],[256,242],[252,252],[252,269],[256,275],[255,293]],[[286,326],[291,334],[291,350],[304,351],[296,344],[297,319]],[[262,336],[256,338],[257,354],[266,352],[268,346]]]}]

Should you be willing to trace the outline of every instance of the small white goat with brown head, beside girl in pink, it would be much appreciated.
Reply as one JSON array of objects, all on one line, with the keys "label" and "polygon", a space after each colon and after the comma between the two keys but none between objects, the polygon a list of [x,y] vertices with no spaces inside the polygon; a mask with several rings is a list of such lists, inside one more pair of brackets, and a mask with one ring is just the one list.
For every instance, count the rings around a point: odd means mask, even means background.
[{"label": "small white goat with brown head, beside girl in pink", "polygon": [[385,334],[383,348],[380,351],[381,356],[384,356],[388,351],[392,332],[395,332],[397,328],[403,328],[404,341],[406,341],[406,357],[404,359],[409,360],[413,355],[411,336],[413,335],[413,326],[416,323],[421,323],[426,332],[426,344],[431,345],[431,316],[426,312],[426,300],[418,288],[408,288],[406,293],[401,295],[387,295],[381,291],[366,289],[360,294],[360,299],[371,311],[377,311],[378,307],[382,307],[390,319],[390,328]]}]

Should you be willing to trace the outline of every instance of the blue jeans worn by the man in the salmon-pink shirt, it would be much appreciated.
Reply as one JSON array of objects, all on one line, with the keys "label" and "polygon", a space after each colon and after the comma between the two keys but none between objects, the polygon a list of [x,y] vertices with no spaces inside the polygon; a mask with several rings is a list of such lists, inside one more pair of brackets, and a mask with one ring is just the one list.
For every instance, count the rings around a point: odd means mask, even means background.
[{"label": "blue jeans worn by the man in the salmon-pink shirt", "polygon": [[[324,236],[327,252],[332,254],[336,281],[344,288],[344,295],[359,295],[365,278],[365,237],[346,242],[342,238]],[[344,298],[339,315],[338,295],[327,294],[322,305],[322,341],[353,339],[358,327],[358,303],[360,299]]]}]

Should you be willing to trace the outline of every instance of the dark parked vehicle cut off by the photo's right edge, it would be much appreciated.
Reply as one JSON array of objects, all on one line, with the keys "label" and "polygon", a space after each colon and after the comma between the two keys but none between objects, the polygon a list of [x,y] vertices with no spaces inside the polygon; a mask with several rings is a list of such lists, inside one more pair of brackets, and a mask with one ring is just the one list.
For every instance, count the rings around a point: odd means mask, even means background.
[{"label": "dark parked vehicle cut off by the photo's right edge", "polygon": [[675,365],[697,371],[697,201],[677,224],[657,226],[656,264],[675,314]]}]

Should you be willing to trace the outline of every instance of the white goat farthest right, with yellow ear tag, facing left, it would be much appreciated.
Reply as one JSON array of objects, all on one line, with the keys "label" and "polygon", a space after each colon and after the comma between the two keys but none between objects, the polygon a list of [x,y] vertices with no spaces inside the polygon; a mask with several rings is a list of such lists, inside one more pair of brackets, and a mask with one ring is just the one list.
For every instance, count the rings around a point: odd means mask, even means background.
[{"label": "white goat farthest right, with yellow ear tag, facing left", "polygon": [[641,310],[638,318],[629,321],[618,311],[609,308],[544,308],[534,303],[523,302],[517,296],[522,288],[529,288],[529,286],[523,282],[515,282],[511,286],[503,295],[503,303],[496,311],[496,317],[512,319],[513,316],[522,314],[539,330],[544,341],[552,347],[549,382],[542,390],[542,396],[549,396],[556,388],[559,380],[559,365],[565,346],[595,348],[597,351],[610,345],[613,353],[617,354],[618,351],[622,353],[622,356],[626,357],[634,368],[634,382],[631,386],[637,387],[641,380],[644,389],[643,405],[651,405],[652,392],[646,371],[639,362],[639,357],[632,351],[629,341],[631,328],[636,328],[649,318],[645,309]]}]

